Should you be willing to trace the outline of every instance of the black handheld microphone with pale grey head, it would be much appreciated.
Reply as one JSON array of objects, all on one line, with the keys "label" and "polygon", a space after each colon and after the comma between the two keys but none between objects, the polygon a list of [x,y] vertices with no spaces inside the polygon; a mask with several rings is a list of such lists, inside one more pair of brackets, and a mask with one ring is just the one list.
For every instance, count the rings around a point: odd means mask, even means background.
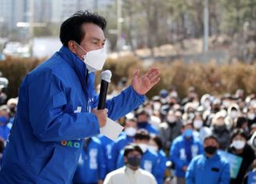
[{"label": "black handheld microphone with pale grey head", "polygon": [[102,82],[101,82],[101,90],[99,92],[98,110],[104,110],[106,107],[106,93],[107,93],[107,88],[109,86],[111,77],[112,77],[112,74],[110,70],[105,70],[101,74]]}]

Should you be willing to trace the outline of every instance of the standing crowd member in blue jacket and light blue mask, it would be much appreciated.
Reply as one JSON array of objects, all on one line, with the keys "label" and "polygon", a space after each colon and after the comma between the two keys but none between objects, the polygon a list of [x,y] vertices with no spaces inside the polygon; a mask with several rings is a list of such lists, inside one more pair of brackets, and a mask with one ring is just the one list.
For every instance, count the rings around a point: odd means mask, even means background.
[{"label": "standing crowd member in blue jacket and light blue mask", "polygon": [[203,153],[202,143],[193,135],[192,122],[184,122],[182,135],[174,139],[170,147],[170,161],[174,163],[178,184],[185,183],[185,174],[192,158]]}]

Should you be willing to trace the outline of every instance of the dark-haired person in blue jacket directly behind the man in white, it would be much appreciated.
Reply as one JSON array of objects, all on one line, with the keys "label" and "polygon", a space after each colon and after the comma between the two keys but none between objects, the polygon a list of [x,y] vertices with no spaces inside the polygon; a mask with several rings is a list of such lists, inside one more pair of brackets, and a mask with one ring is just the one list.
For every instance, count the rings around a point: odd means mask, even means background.
[{"label": "dark-haired person in blue jacket directly behind the man in white", "polygon": [[[134,135],[134,143],[137,144],[143,152],[141,168],[150,172],[156,178],[158,176],[158,154],[148,149],[149,140],[150,134],[146,130],[138,130]],[[123,154],[124,150],[122,150],[118,156],[117,169],[125,165],[123,162]]]}]

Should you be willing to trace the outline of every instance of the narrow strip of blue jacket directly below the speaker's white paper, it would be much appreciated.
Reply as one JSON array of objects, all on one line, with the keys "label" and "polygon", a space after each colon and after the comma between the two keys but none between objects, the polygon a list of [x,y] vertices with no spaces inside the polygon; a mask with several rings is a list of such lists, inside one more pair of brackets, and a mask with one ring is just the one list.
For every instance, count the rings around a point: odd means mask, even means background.
[{"label": "narrow strip of blue jacket directly below the speaker's white paper", "polygon": [[105,135],[99,134],[98,135],[99,140],[102,142],[102,149],[104,153],[104,157],[106,160],[106,174],[110,173],[112,171],[110,169],[110,165],[112,165],[112,157],[111,157],[111,150],[112,150],[112,141],[110,138],[107,138]]}]

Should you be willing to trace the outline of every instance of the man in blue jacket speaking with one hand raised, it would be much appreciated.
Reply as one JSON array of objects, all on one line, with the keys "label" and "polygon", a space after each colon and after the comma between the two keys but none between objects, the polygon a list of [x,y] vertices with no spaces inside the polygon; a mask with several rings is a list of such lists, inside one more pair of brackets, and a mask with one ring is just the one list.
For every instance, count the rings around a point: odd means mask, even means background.
[{"label": "man in blue jacket speaking with one hand raised", "polygon": [[105,110],[94,109],[94,72],[106,60],[105,27],[98,14],[77,12],[62,23],[62,48],[23,79],[0,183],[70,183],[83,138],[99,134],[107,116],[117,120],[141,105],[159,81],[158,68],[142,77],[137,71],[131,86],[107,101]]}]

